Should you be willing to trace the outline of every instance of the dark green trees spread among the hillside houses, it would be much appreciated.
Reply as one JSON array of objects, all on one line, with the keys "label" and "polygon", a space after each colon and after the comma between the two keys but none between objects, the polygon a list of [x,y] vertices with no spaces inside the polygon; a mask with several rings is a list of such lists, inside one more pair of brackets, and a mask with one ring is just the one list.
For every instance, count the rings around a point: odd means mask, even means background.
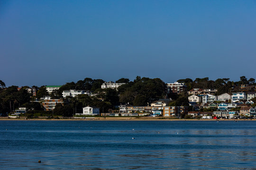
[{"label": "dark green trees spread among the hillside houses", "polygon": [[[171,98],[170,106],[187,106],[188,94],[184,91],[181,94],[167,93],[165,82],[160,78],[148,78],[137,76],[133,81],[128,78],[120,78],[116,83],[125,83],[118,89],[101,89],[101,85],[105,81],[102,79],[84,78],[75,82],[68,82],[62,85],[58,90],[54,90],[51,94],[46,91],[46,86],[32,86],[37,90],[37,96],[32,96],[27,92],[28,86],[18,90],[18,86],[5,86],[0,80],[0,113],[9,113],[18,107],[24,106],[27,110],[43,110],[36,99],[50,95],[52,99],[63,98],[64,90],[84,90],[91,91],[92,95],[81,94],[76,97],[66,97],[64,105],[57,104],[54,113],[63,116],[72,116],[75,112],[82,113],[82,107],[95,106],[100,108],[100,112],[110,109],[115,110],[120,104],[128,104],[131,106],[147,106],[151,102],[161,98]],[[247,80],[245,76],[240,77],[240,81],[230,81],[229,78],[218,78],[215,81],[209,80],[208,77],[196,78],[194,81],[190,78],[177,80],[184,83],[187,90],[192,88],[201,89],[217,89],[217,95],[222,93],[238,92],[241,85],[251,86],[249,91],[254,91],[256,85],[255,79]]]}]

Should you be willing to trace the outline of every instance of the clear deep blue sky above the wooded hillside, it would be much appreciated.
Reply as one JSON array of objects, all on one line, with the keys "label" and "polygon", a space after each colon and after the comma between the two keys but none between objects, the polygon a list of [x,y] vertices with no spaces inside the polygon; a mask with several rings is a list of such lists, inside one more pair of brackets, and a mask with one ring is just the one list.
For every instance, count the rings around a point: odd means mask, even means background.
[{"label": "clear deep blue sky above the wooded hillside", "polygon": [[256,0],[0,0],[0,80],[256,79]]}]

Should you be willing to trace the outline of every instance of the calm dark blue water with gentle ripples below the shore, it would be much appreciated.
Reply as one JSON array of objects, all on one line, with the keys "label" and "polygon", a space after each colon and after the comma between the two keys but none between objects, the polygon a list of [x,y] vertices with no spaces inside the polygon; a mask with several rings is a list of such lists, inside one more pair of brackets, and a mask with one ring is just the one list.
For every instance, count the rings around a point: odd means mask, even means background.
[{"label": "calm dark blue water with gentle ripples below the shore", "polygon": [[0,169],[256,170],[256,121],[0,121]]}]

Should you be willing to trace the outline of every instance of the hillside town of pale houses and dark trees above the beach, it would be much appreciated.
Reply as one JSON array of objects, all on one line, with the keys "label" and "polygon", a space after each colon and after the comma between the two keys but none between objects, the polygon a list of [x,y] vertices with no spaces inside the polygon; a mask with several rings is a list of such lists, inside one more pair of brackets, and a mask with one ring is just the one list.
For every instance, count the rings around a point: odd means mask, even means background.
[{"label": "hillside town of pale houses and dark trees above the beach", "polygon": [[174,83],[137,76],[133,81],[84,78],[65,85],[6,87],[0,80],[0,116],[255,119],[256,83],[246,76],[238,82],[204,77]]}]

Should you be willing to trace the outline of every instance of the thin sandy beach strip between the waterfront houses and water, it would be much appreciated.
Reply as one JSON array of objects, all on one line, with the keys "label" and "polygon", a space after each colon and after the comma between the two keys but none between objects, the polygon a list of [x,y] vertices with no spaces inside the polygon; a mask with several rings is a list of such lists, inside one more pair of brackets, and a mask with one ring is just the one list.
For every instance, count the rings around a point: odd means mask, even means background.
[{"label": "thin sandy beach strip between the waterfront houses and water", "polygon": [[[8,118],[0,118],[1,120],[20,120],[20,121],[217,121],[217,119],[152,119],[152,118],[87,118],[87,119],[8,119]],[[255,121],[256,119],[218,119],[219,121]]]}]

